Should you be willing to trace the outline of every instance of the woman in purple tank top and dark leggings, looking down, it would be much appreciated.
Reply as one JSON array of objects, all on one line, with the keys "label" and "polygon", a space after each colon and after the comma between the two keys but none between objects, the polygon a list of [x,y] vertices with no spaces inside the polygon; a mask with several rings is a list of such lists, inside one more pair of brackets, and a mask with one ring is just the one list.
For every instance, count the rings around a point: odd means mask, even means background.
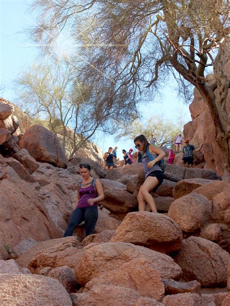
[{"label": "woman in purple tank top and dark leggings, looking down", "polygon": [[90,176],[89,164],[81,164],[80,172],[83,178],[78,183],[78,200],[76,207],[69,219],[68,226],[63,237],[72,236],[77,225],[84,221],[86,236],[93,234],[98,220],[97,202],[104,199],[104,192],[99,179]]}]

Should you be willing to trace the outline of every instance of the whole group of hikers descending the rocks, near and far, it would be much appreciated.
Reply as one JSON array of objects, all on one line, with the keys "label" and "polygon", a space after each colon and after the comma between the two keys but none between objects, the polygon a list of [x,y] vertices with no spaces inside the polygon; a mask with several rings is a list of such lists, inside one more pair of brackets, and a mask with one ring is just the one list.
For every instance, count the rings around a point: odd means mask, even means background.
[{"label": "whole group of hikers descending the rocks, near and far", "polygon": [[[134,141],[135,148],[138,150],[136,162],[142,162],[145,169],[145,180],[139,189],[137,200],[138,209],[140,212],[146,210],[148,204],[153,213],[157,213],[155,201],[150,192],[156,192],[157,188],[163,183],[164,180],[164,157],[165,153],[155,144],[157,140],[154,135],[150,135],[151,138],[148,141],[144,135],[139,135]],[[199,148],[195,148],[189,144],[189,140],[185,139],[185,146],[182,148],[183,138],[181,133],[174,139],[176,152],[182,152],[181,166],[188,164],[188,167],[193,167],[193,151],[199,151],[202,148],[202,143]],[[105,161],[105,168],[113,169],[116,167],[117,147],[114,149],[109,148],[103,156]],[[178,151],[179,150],[179,151]],[[132,152],[122,150],[124,155],[124,165],[131,165]],[[175,158],[175,153],[170,148],[168,150],[168,164],[172,164]],[[64,233],[64,237],[72,236],[74,229],[84,221],[86,236],[93,234],[95,226],[98,220],[98,202],[104,199],[104,191],[99,179],[92,178],[90,174],[91,166],[89,164],[80,165],[80,173],[82,176],[82,182],[79,182],[76,186],[78,191],[78,200],[75,209],[69,219],[68,226]]]}]

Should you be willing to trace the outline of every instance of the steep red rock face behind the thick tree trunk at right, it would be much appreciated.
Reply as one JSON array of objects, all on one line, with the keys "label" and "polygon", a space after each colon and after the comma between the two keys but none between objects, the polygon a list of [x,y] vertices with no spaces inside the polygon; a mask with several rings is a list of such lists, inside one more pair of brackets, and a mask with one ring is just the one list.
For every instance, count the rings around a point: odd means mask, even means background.
[{"label": "steep red rock face behind the thick tree trunk at right", "polygon": [[[230,57],[226,71],[230,77]],[[208,78],[209,82],[212,82],[212,76]],[[192,121],[184,125],[184,137],[188,138],[190,143],[195,146],[199,146],[203,142],[203,148],[200,153],[197,153],[197,159],[200,163],[205,164],[204,168],[213,169],[222,176],[224,171],[224,156],[215,141],[214,124],[209,109],[197,89],[194,90],[194,99],[189,109]],[[230,92],[228,95],[227,111],[230,114]]]}]

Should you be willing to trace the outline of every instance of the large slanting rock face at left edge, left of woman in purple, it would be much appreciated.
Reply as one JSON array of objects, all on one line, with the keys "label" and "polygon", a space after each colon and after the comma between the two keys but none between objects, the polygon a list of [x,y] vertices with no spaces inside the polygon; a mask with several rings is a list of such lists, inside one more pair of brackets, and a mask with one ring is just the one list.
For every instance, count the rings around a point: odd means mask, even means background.
[{"label": "large slanting rock face at left edge, left of woman in purple", "polygon": [[[16,160],[15,160],[16,161]],[[23,166],[22,166],[23,167]],[[0,241],[13,248],[22,240],[61,237],[35,183],[22,180],[10,166],[0,171]],[[28,173],[29,174],[29,173]]]}]

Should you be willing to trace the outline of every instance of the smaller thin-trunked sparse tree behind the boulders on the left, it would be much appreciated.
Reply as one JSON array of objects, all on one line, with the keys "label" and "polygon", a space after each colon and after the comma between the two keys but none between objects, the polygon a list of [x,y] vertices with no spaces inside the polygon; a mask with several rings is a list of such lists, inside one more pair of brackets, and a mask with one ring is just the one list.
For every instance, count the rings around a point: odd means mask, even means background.
[{"label": "smaller thin-trunked sparse tree behind the boulders on the left", "polygon": [[[80,78],[79,78],[80,79]],[[30,124],[41,124],[57,135],[72,156],[96,131],[114,132],[114,121],[133,116],[121,101],[112,101],[109,89],[72,77],[66,63],[33,64],[16,78],[17,105]],[[100,83],[100,86],[107,86]],[[125,95],[129,93],[123,92]]]}]

